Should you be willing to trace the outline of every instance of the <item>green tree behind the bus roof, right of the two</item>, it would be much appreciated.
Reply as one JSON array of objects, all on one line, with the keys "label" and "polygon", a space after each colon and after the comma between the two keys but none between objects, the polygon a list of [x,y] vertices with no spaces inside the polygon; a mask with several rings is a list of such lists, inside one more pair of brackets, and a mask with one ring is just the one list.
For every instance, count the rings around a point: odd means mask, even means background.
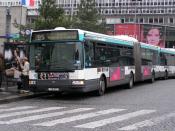
[{"label": "green tree behind the bus roof, right of the two", "polygon": [[105,32],[105,23],[95,5],[95,0],[81,0],[77,16],[73,20],[74,28],[101,33]]}]

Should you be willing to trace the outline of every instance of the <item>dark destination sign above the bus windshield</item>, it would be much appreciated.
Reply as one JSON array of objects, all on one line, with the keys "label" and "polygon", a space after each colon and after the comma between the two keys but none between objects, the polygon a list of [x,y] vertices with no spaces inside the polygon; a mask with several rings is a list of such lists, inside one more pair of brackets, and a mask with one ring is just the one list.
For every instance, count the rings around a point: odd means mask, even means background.
[{"label": "dark destination sign above the bus windshield", "polygon": [[42,31],[33,32],[31,41],[78,40],[78,31]]}]

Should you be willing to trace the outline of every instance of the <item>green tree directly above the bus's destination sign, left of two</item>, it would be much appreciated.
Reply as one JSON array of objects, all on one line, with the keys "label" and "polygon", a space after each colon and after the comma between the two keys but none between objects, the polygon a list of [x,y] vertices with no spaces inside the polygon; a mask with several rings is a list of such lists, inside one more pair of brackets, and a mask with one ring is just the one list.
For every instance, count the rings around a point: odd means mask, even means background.
[{"label": "green tree directly above the bus's destination sign, left of two", "polygon": [[62,8],[57,8],[55,0],[42,0],[35,29],[53,29],[60,26],[69,27],[70,18],[65,16]]}]

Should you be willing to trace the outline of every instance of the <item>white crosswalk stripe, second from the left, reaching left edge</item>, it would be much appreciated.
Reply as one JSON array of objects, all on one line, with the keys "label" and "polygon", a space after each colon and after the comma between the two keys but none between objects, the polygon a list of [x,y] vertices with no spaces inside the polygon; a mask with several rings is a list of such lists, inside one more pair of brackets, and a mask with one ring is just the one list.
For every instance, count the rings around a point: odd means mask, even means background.
[{"label": "white crosswalk stripe, second from the left, reaching left edge", "polygon": [[63,108],[65,108],[65,107],[49,107],[49,108],[36,109],[36,110],[11,112],[11,113],[1,114],[0,115],[0,118],[6,118],[6,117],[18,116],[18,115],[27,115],[27,114],[32,114],[32,113],[38,113],[38,112],[44,112],[44,111],[51,111],[51,110],[57,110],[57,109],[63,109]]}]

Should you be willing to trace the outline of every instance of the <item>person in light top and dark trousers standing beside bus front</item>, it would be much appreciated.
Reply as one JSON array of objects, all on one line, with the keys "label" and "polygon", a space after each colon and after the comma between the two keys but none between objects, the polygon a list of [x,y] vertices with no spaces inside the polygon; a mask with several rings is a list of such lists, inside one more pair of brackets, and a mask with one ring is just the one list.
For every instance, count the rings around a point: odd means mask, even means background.
[{"label": "person in light top and dark trousers standing beside bus front", "polygon": [[30,64],[28,62],[28,58],[24,57],[22,59],[22,64],[21,64],[21,69],[22,69],[21,80],[22,80],[22,88],[24,90],[28,90],[29,66]]}]

